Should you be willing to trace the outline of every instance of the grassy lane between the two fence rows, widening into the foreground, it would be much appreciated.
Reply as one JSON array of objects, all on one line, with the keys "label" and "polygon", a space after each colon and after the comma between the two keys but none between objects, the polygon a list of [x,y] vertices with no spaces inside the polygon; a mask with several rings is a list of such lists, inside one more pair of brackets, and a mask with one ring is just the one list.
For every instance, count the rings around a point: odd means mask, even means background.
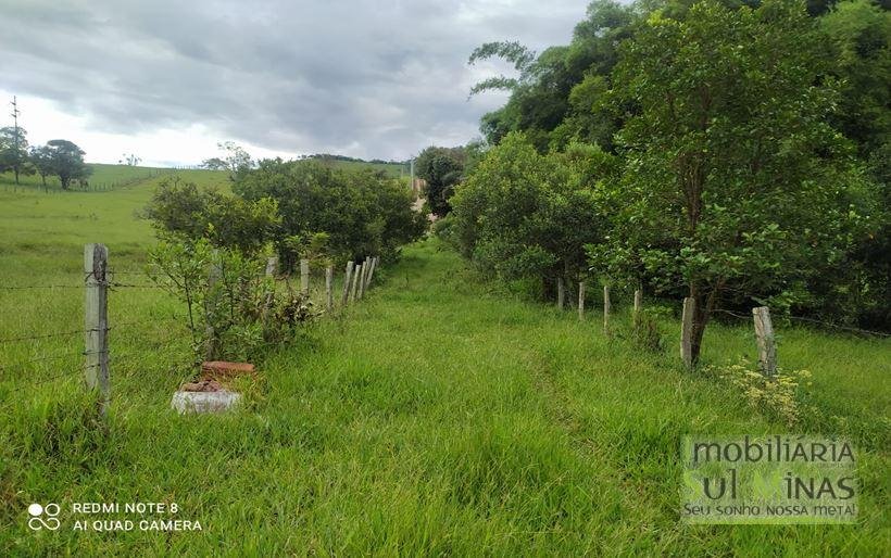
[{"label": "grassy lane between the two fence rows, widening into the foreground", "polygon": [[[880,444],[864,452],[861,525],[682,525],[683,433],[783,427],[727,388],[666,365],[670,358],[605,339],[598,320],[579,324],[572,313],[489,292],[434,242],[407,249],[380,278],[344,319],[324,320],[269,358],[249,411],[176,417],[162,390],[138,405],[118,403],[103,439],[85,433],[89,417],[42,416],[66,432],[49,442],[27,426],[35,417],[16,419],[3,435],[25,449],[0,484],[10,503],[0,550],[2,543],[34,554],[194,556],[877,556],[886,548]],[[718,334],[727,337],[723,351],[735,347],[737,332]],[[886,351],[857,345],[864,362]],[[862,406],[887,397],[879,390]],[[12,485],[21,493],[10,494]],[[180,519],[200,520],[203,531],[28,532],[15,513],[28,498],[51,497],[176,502]]]}]

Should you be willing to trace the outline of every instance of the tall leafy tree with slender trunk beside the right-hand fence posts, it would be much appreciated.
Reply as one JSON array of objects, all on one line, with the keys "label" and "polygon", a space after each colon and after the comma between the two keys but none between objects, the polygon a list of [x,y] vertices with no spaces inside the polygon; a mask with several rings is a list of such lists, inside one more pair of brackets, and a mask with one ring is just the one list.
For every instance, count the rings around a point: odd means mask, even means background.
[{"label": "tall leafy tree with slender trunk beside the right-hand fence posts", "polygon": [[614,94],[635,109],[618,136],[614,253],[687,284],[694,359],[728,289],[786,291],[866,233],[867,187],[826,123],[837,96],[819,49],[792,0],[704,0],[682,21],[654,12],[625,43]]}]

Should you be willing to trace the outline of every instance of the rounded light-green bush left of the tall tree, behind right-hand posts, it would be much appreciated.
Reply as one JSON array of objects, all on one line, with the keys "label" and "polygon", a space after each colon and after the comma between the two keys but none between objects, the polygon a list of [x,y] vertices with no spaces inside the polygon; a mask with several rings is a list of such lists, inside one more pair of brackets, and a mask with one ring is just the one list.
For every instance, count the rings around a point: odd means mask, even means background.
[{"label": "rounded light-green bush left of the tall tree, behind right-hand posts", "polygon": [[587,275],[586,244],[604,234],[599,180],[610,158],[592,145],[540,155],[510,134],[457,187],[450,241],[502,279],[575,284]]}]

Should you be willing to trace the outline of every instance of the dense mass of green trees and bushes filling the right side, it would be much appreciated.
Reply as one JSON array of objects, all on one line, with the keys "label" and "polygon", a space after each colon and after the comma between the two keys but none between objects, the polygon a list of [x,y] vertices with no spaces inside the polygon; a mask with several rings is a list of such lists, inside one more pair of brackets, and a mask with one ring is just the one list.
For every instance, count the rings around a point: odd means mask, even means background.
[{"label": "dense mass of green trees and bushes filling the right side", "polygon": [[481,148],[427,157],[438,231],[544,294],[689,296],[694,358],[721,307],[887,329],[889,43],[868,0],[595,0],[568,46],[484,45],[516,77],[472,91],[511,93]]}]

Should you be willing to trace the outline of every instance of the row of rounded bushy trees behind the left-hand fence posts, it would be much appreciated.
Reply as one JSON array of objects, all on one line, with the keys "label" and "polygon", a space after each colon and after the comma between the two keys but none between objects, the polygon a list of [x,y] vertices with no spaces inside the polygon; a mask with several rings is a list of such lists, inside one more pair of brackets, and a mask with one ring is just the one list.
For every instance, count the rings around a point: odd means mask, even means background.
[{"label": "row of rounded bushy trees behind the left-hand fence posts", "polygon": [[163,180],[143,216],[162,237],[200,239],[248,256],[274,251],[284,268],[300,258],[343,263],[398,256],[419,238],[426,217],[410,192],[375,169],[337,169],[315,161],[262,160],[231,175],[233,195],[176,177]]}]

